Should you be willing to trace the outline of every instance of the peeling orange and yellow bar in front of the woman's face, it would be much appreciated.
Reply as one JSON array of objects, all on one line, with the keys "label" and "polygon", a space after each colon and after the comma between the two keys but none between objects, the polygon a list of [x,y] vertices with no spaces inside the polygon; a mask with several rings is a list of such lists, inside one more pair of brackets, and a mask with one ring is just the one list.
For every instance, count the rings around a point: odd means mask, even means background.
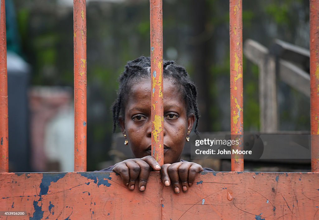
[{"label": "peeling orange and yellow bar in front of the woman's face", "polygon": [[160,166],[164,164],[162,7],[162,0],[150,0],[152,156]]}]

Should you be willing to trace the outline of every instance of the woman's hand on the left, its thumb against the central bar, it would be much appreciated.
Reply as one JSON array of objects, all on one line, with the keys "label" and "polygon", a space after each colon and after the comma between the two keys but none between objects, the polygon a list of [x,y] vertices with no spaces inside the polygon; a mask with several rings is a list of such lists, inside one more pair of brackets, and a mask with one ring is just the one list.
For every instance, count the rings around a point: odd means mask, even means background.
[{"label": "woman's hand on the left, its thumb against the central bar", "polygon": [[135,188],[135,181],[138,180],[139,190],[144,191],[151,167],[154,171],[161,169],[159,163],[152,156],[146,156],[119,162],[114,165],[112,171],[121,175],[124,185],[128,186],[129,189],[133,190]]}]

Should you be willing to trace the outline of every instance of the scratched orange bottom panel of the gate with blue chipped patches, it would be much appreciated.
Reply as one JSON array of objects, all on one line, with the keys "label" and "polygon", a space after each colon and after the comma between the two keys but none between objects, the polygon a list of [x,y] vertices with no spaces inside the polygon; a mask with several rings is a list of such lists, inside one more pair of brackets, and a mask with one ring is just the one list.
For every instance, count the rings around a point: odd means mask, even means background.
[{"label": "scratched orange bottom panel of the gate with blue chipped patches", "polygon": [[0,174],[0,219],[318,219],[318,173],[208,172],[186,193],[152,172],[145,192],[115,173]]}]

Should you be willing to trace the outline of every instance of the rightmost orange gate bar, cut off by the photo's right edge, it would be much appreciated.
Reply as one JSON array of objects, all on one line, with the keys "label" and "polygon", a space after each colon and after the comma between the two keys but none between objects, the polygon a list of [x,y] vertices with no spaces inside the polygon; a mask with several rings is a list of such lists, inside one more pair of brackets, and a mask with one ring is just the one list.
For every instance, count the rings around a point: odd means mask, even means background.
[{"label": "rightmost orange gate bar, cut off by the photo's right edge", "polygon": [[319,1],[310,0],[311,170],[319,172]]}]

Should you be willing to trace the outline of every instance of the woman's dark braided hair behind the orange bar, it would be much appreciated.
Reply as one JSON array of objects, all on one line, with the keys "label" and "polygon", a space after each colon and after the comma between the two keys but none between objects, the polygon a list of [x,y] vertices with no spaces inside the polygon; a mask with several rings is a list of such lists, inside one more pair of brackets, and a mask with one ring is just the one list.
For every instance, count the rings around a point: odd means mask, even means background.
[{"label": "woman's dark braided hair behind the orange bar", "polygon": [[[182,97],[187,106],[187,117],[194,114],[196,117],[195,133],[198,134],[197,125],[200,117],[197,107],[197,89],[194,82],[191,81],[186,69],[183,66],[177,65],[172,60],[163,60],[163,77],[175,80],[175,83],[180,87]],[[149,57],[141,56],[136,60],[129,61],[124,72],[120,75],[119,89],[117,91],[117,98],[112,105],[113,111],[113,132],[116,124],[119,126],[119,116],[124,115],[125,103],[130,94],[131,86],[140,80],[151,79],[151,59]]]}]

